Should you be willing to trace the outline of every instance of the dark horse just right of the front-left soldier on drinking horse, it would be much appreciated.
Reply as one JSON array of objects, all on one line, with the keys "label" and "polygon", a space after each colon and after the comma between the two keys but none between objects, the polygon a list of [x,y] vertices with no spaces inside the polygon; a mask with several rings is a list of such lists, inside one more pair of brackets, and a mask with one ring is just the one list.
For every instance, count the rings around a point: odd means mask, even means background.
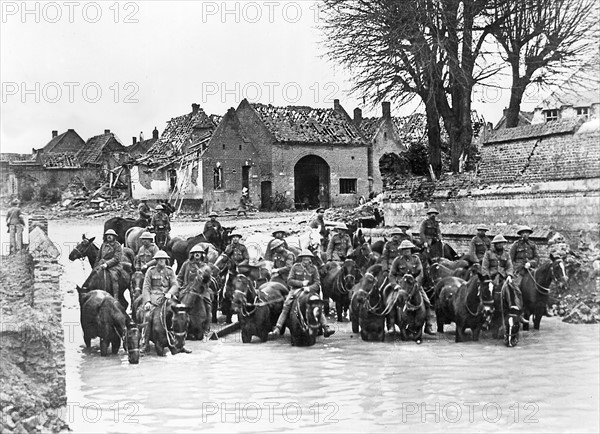
[{"label": "dark horse just right of the front-left soldier on drinking horse", "polygon": [[194,281],[179,293],[181,303],[189,307],[188,338],[202,340],[210,331],[212,316],[213,292],[209,284],[212,278],[212,268],[203,264]]}]

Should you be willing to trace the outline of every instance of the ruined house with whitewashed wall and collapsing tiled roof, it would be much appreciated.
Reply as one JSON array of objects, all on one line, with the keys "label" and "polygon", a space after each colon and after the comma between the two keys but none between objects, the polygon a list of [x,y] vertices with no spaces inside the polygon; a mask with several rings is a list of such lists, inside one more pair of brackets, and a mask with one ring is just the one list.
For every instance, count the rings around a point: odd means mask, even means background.
[{"label": "ruined house with whitewashed wall and collapsing tiled roof", "polygon": [[[192,112],[172,118],[161,136],[130,167],[134,199],[203,198],[202,154],[217,126],[198,104]],[[156,134],[158,134],[158,131]]]}]

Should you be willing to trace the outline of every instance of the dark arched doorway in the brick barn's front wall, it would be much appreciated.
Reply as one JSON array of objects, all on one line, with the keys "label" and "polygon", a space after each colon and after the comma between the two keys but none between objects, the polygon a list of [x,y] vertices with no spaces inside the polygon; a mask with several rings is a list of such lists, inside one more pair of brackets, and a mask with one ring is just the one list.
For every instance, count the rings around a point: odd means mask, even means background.
[{"label": "dark arched doorway in the brick barn's front wall", "polygon": [[294,166],[296,208],[329,206],[329,165],[316,155],[302,157]]}]

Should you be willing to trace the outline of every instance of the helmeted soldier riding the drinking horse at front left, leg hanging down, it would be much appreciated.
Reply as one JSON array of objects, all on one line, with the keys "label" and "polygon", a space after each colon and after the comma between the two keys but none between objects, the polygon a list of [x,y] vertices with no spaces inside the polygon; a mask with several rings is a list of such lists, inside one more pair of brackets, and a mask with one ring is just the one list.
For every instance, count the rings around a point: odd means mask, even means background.
[{"label": "helmeted soldier riding the drinking horse at front left, leg hanging down", "polygon": [[[144,322],[142,327],[142,337],[144,344],[141,351],[148,351],[150,346],[150,333],[148,323],[152,318],[152,313],[156,306],[162,301],[163,297],[171,299],[179,293],[179,285],[175,271],[167,265],[169,255],[163,250],[158,251],[152,258],[156,265],[150,267],[144,277],[142,287],[142,306],[144,307]],[[184,352],[189,352],[183,349]]]}]

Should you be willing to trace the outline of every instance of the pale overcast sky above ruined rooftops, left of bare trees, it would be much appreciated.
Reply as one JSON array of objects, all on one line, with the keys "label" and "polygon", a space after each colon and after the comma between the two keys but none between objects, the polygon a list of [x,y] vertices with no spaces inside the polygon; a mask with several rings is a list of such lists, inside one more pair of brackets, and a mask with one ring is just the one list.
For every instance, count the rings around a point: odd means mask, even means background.
[{"label": "pale overcast sky above ruined rooftops, left of bare trees", "polygon": [[[193,102],[222,115],[244,97],[313,107],[339,98],[350,115],[381,113],[348,95],[348,74],[323,57],[318,2],[0,3],[2,152],[30,153],[68,128],[84,140],[110,129],[129,145]],[[473,105],[496,123],[507,103],[491,89]]]}]

